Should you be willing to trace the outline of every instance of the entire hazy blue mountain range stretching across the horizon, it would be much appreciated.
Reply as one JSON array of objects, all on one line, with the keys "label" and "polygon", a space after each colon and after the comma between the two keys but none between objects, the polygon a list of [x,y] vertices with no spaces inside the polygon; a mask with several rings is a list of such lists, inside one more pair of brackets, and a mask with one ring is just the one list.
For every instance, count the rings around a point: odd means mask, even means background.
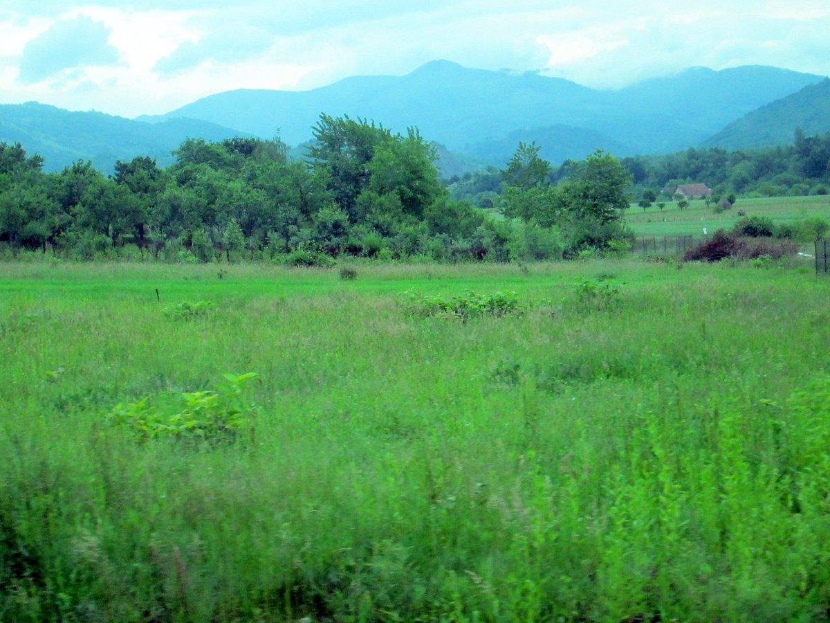
[{"label": "entire hazy blue mountain range stretching across the horizon", "polygon": [[[623,156],[787,142],[794,131],[789,125],[803,124],[808,134],[830,131],[828,85],[823,76],[769,66],[696,67],[598,91],[535,72],[432,61],[407,76],[354,76],[313,91],[228,91],[138,120],[0,106],[0,140],[19,140],[41,153],[49,169],[76,159],[111,169],[115,159],[134,155],[168,164],[169,152],[187,136],[278,135],[299,145],[312,138],[325,112],[396,131],[417,126],[427,140],[446,146],[442,164],[452,174],[476,163],[501,165],[520,140],[535,140],[554,164],[597,148]],[[784,124],[782,110],[788,113]]]}]

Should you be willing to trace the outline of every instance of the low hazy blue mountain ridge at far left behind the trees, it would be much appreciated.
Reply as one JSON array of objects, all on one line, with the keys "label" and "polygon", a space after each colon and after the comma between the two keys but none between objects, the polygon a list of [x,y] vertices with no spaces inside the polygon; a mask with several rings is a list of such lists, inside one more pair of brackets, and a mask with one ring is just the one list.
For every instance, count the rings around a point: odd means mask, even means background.
[{"label": "low hazy blue mountain ridge at far left behind the trees", "polygon": [[166,166],[173,163],[172,152],[185,139],[224,140],[238,135],[246,134],[203,120],[170,119],[150,124],[35,102],[0,105],[0,141],[19,142],[29,154],[41,155],[49,171],[76,160],[91,160],[96,168],[111,173],[117,160],[138,155],[148,155]]}]

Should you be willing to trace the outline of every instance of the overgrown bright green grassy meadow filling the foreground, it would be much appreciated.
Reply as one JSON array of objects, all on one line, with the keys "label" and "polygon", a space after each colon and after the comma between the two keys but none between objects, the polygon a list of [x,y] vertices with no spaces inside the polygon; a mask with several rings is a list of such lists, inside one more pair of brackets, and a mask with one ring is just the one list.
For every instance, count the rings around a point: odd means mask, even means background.
[{"label": "overgrown bright green grassy meadow filling the foreground", "polygon": [[[0,265],[0,621],[828,619],[808,267],[224,268]],[[107,417],[249,371],[225,443]]]}]

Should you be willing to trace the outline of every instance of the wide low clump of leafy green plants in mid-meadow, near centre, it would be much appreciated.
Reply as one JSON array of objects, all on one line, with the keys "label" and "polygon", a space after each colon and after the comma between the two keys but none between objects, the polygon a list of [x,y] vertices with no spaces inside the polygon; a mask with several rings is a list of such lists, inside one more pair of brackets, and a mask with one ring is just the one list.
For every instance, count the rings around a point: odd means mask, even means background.
[{"label": "wide low clump of leafy green plants in mid-meadow, near centre", "polygon": [[430,297],[417,292],[406,292],[404,297],[408,312],[421,317],[445,316],[466,322],[478,316],[522,316],[526,311],[516,292],[489,295],[466,292],[450,299],[440,295]]}]

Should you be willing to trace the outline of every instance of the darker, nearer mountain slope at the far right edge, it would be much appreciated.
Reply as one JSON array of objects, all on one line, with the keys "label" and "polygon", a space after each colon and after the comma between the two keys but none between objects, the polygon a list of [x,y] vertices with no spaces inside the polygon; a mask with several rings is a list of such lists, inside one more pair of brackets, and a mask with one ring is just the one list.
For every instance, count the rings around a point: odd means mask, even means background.
[{"label": "darker, nearer mountain slope at the far right edge", "polygon": [[727,150],[787,145],[798,129],[808,136],[830,132],[830,79],[753,110],[704,145]]}]

